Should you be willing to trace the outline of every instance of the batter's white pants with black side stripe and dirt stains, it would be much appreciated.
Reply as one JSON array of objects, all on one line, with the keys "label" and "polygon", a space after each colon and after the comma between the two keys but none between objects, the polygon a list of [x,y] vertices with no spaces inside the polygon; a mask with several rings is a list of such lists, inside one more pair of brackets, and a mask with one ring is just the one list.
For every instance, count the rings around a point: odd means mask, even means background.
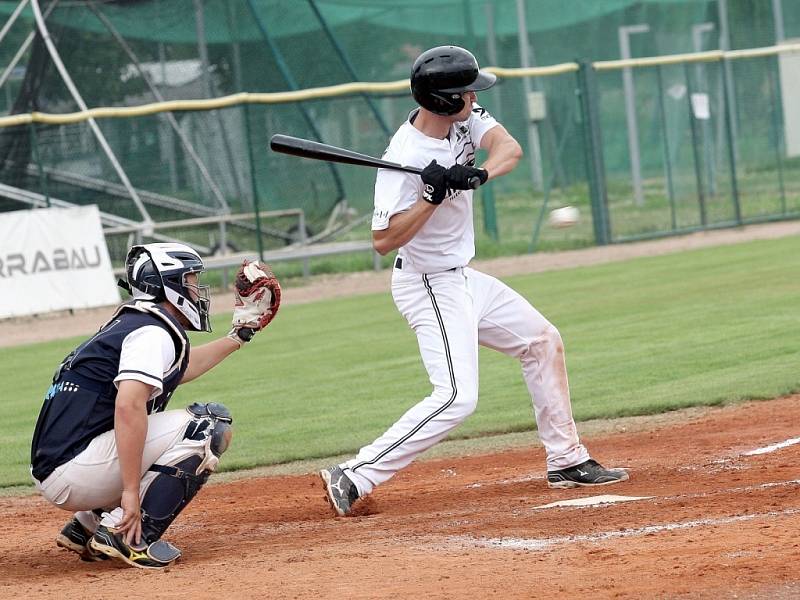
[{"label": "batter's white pants with black side stripe and dirt stains", "polygon": [[578,440],[558,330],[506,284],[470,267],[394,269],[392,296],[417,334],[433,391],[342,465],[365,495],[466,419],[478,402],[478,345],[519,359],[548,470],[589,458]]}]

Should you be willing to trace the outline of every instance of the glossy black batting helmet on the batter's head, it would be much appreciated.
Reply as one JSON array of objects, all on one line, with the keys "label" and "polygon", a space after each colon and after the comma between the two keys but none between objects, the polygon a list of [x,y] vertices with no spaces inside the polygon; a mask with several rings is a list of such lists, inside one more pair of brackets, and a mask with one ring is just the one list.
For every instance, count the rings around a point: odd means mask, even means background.
[{"label": "glossy black batting helmet on the batter's head", "polygon": [[411,93],[421,107],[437,115],[464,108],[461,95],[492,87],[497,77],[478,69],[478,61],[458,46],[437,46],[417,57],[411,67]]}]

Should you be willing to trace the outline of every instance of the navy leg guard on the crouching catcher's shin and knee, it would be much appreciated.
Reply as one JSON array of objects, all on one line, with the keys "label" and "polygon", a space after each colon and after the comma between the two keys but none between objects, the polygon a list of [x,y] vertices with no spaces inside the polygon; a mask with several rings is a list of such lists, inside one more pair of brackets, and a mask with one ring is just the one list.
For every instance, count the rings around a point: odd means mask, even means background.
[{"label": "navy leg guard on the crouching catcher's shin and knee", "polygon": [[[159,457],[142,478],[142,537],[151,547],[216,470],[233,434],[233,419],[224,405],[195,403],[186,410],[192,420],[183,439]],[[179,550],[175,552],[170,562],[180,555]],[[164,558],[169,556],[167,552]]]}]

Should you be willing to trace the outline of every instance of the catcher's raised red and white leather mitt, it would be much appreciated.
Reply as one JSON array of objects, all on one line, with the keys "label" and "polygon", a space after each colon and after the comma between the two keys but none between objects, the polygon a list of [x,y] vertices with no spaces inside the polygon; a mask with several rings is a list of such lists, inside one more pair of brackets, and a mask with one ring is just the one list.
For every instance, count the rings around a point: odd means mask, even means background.
[{"label": "catcher's raised red and white leather mitt", "polygon": [[236,273],[233,328],[228,337],[240,346],[275,318],[281,305],[281,285],[266,263],[245,260]]}]

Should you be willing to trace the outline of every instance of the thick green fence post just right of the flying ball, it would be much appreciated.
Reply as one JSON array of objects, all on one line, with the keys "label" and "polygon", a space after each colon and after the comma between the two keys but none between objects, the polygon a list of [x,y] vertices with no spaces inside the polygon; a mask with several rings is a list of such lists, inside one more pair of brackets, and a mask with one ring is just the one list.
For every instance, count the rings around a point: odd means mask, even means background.
[{"label": "thick green fence post just right of the flying ball", "polygon": [[594,67],[590,62],[580,61],[578,93],[583,118],[586,175],[589,180],[589,197],[592,203],[594,238],[598,246],[604,246],[611,241],[611,224],[608,217],[606,167],[603,160],[603,139],[597,106],[597,80]]}]

